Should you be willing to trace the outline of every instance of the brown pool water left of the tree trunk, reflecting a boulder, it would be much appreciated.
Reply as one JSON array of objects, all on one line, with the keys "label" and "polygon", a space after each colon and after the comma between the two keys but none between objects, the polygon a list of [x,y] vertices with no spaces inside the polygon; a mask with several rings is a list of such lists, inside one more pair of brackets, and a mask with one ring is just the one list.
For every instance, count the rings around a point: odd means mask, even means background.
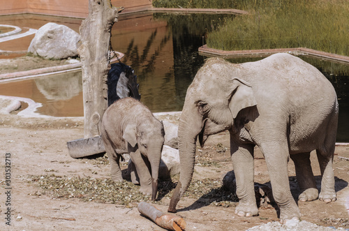
[{"label": "brown pool water left of the tree trunk, reflecting a boulder", "polygon": [[81,117],[84,114],[80,71],[5,82],[0,84],[0,95],[31,98],[43,104],[38,107],[38,113],[53,117]]}]

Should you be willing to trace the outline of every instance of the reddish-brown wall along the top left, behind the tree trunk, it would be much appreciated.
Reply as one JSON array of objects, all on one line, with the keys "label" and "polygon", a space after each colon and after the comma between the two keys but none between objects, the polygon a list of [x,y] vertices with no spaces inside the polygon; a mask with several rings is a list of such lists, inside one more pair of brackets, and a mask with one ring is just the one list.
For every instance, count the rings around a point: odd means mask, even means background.
[{"label": "reddish-brown wall along the top left, behind the tree trunk", "polygon": [[[124,6],[123,13],[151,8],[152,0],[112,0],[113,6]],[[88,0],[7,0],[0,1],[0,15],[35,13],[66,17],[87,17]]]}]

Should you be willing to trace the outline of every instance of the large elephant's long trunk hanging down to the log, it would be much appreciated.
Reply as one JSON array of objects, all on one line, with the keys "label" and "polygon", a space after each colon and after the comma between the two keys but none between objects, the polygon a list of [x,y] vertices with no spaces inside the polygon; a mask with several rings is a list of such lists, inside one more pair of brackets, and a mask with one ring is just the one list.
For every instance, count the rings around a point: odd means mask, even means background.
[{"label": "large elephant's long trunk hanging down to the log", "polygon": [[174,189],[168,207],[168,211],[173,213],[177,211],[176,206],[179,202],[179,198],[181,198],[188,189],[191,179],[193,178],[196,140],[198,134],[202,130],[202,117],[198,116],[198,118],[193,118],[193,115],[189,114],[190,113],[188,113],[188,111],[185,112],[185,110],[182,112],[178,128],[178,148],[181,162],[181,173],[179,175],[179,182]]}]

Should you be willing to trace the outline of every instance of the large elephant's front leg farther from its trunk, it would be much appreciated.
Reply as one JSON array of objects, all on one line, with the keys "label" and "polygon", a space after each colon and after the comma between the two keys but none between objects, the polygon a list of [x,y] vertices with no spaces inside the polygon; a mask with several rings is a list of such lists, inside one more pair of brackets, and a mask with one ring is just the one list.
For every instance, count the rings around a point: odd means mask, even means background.
[{"label": "large elephant's front leg farther from its trunk", "polygon": [[288,181],[288,146],[274,143],[265,143],[261,149],[265,155],[270,182],[272,183],[273,197],[280,208],[280,222],[285,223],[292,218],[299,219],[301,213],[292,197],[290,182]]}]

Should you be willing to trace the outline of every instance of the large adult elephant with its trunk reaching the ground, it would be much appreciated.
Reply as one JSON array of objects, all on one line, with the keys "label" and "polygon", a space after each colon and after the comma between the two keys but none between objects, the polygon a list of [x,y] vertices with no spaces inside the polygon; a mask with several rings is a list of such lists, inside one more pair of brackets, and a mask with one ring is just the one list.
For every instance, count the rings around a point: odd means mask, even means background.
[{"label": "large adult elephant with its trunk reaching the ground", "polygon": [[[302,190],[299,200],[336,200],[332,162],[338,102],[332,84],[315,67],[290,54],[230,64],[208,59],[188,87],[179,121],[181,174],[168,211],[175,212],[193,177],[195,143],[230,131],[231,158],[239,205],[235,214],[258,215],[253,191],[253,147],[265,156],[281,223],[301,214],[290,193],[289,158]],[[309,160],[316,149],[321,193]]]}]

